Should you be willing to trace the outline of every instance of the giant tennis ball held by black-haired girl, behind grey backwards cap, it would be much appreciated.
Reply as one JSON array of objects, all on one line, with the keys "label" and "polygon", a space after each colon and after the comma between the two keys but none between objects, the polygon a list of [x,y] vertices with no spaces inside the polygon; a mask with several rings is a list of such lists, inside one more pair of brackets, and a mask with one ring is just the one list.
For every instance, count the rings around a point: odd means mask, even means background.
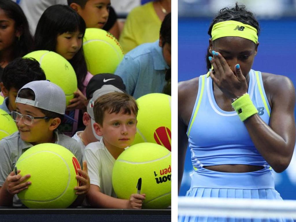
[{"label": "giant tennis ball held by black-haired girl, behind grey backwards cap", "polygon": [[69,100],[74,98],[73,93],[77,90],[77,78],[67,59],[47,50],[30,52],[24,57],[34,58],[40,63],[46,79],[62,88],[66,96],[66,105],[69,105]]}]

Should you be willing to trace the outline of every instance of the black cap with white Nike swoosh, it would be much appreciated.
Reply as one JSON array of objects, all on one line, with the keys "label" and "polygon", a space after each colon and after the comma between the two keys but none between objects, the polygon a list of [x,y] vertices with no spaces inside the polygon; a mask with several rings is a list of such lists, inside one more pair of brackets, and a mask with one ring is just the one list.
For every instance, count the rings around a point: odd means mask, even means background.
[{"label": "black cap with white Nike swoosh", "polygon": [[92,98],[94,91],[101,89],[104,85],[112,85],[121,91],[126,92],[126,85],[124,85],[123,80],[119,75],[101,73],[94,75],[90,79],[89,84],[86,86],[86,98]]}]

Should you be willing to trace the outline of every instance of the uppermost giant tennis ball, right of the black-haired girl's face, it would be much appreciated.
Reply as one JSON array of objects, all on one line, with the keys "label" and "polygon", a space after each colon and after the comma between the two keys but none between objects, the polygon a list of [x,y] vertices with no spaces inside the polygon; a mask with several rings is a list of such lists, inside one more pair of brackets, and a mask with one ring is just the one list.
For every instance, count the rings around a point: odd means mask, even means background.
[{"label": "uppermost giant tennis ball, right of the black-haired girl's face", "polygon": [[123,59],[123,50],[112,34],[98,28],[87,28],[83,38],[87,70],[93,75],[114,73]]}]

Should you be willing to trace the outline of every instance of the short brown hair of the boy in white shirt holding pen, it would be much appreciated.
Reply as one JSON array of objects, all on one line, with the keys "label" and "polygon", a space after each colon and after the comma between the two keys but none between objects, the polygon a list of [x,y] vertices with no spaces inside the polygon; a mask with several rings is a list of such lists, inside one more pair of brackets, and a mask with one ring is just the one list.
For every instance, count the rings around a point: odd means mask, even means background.
[{"label": "short brown hair of the boy in white shirt holding pen", "polygon": [[138,115],[138,105],[135,98],[126,93],[112,92],[100,96],[94,103],[94,119],[96,123],[103,125],[104,113]]}]

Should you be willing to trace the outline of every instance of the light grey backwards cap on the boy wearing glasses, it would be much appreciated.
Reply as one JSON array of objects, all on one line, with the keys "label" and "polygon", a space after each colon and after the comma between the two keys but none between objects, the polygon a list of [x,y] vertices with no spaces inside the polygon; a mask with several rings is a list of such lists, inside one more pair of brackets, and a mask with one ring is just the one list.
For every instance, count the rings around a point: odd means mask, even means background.
[{"label": "light grey backwards cap on the boy wearing glasses", "polygon": [[[22,89],[32,89],[35,100],[18,97]],[[47,80],[32,81],[25,84],[17,93],[15,102],[28,104],[43,110],[64,115],[66,110],[66,96],[64,91],[56,84]]]}]

